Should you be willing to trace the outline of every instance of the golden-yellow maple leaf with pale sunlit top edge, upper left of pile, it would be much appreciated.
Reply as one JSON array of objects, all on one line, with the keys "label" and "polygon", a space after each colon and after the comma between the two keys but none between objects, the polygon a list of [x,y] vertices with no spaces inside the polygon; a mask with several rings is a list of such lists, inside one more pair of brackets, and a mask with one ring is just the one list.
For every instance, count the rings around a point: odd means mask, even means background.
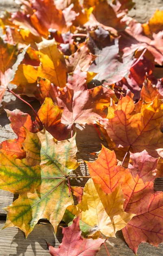
[{"label": "golden-yellow maple leaf with pale sunlit top edge, upper left of pile", "polygon": [[36,51],[39,57],[39,66],[21,64],[16,72],[12,83],[18,85],[15,90],[30,96],[37,88],[37,78],[39,76],[49,79],[56,86],[64,87],[66,83],[66,64],[62,52],[57,48],[57,43],[53,40],[43,40],[38,45]]}]

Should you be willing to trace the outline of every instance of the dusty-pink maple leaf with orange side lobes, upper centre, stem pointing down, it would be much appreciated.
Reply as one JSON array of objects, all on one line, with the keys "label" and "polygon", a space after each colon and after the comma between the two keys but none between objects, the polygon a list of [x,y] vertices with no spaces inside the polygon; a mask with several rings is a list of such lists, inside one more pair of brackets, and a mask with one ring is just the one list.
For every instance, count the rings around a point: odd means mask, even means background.
[{"label": "dusty-pink maple leaf with orange side lobes, upper centre, stem pointing down", "polygon": [[104,109],[115,97],[113,90],[98,86],[88,89],[87,73],[80,70],[68,75],[64,88],[54,87],[54,103],[63,108],[61,123],[71,127],[74,123],[94,124],[96,117],[105,117]]}]

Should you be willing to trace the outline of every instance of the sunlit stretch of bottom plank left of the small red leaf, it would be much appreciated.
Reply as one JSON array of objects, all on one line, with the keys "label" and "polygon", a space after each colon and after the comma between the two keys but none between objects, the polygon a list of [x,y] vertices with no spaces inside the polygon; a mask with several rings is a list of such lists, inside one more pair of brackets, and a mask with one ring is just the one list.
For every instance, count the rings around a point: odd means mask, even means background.
[{"label": "sunlit stretch of bottom plank left of the small red leaf", "polygon": [[[4,221],[0,221],[0,228],[4,226]],[[61,229],[61,228],[60,228]],[[50,223],[37,224],[35,229],[24,238],[24,233],[11,227],[0,231],[0,255],[1,256],[49,256],[46,241],[58,247],[61,241],[61,231],[59,240],[54,236],[54,230]]]}]

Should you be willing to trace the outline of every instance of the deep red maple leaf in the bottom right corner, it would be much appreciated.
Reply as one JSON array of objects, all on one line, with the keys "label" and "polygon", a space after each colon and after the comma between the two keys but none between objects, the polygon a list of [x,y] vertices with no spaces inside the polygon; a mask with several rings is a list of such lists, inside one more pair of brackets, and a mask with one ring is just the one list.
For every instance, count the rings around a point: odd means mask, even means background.
[{"label": "deep red maple leaf in the bottom right corner", "polygon": [[148,198],[146,197],[143,203],[139,204],[137,216],[133,217],[128,226],[122,229],[126,243],[135,254],[137,254],[138,246],[142,242],[150,243],[155,247],[162,243],[162,216],[163,192],[149,193]]}]

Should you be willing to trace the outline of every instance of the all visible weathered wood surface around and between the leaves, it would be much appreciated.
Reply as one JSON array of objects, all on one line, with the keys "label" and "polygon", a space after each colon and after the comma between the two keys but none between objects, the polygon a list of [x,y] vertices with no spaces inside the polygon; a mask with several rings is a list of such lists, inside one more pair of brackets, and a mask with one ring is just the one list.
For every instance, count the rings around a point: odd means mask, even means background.
[{"label": "all visible weathered wood surface around and between the leaves", "polygon": [[[138,18],[140,22],[146,22],[154,13],[154,11],[163,7],[162,0],[135,0],[136,8],[130,14],[135,18]],[[1,0],[0,1],[0,14],[5,10],[15,11],[16,4],[14,0]],[[145,11],[146,9],[146,11]],[[163,8],[162,8],[163,9]],[[141,15],[143,13],[143,15]],[[141,16],[141,17],[140,17]],[[139,18],[140,17],[140,18]],[[155,75],[162,77],[162,69],[156,68]],[[34,101],[33,106],[39,107],[39,103]],[[19,99],[15,99],[13,95],[8,94],[5,96],[3,107],[13,110],[19,108],[24,112],[28,112],[29,108]],[[91,135],[91,136],[90,136]],[[3,108],[0,109],[0,141],[15,138],[15,134],[10,127],[9,120]],[[80,168],[77,169],[76,175],[87,175],[88,170],[83,160],[94,161],[95,156],[90,155],[94,151],[101,149],[101,143],[107,146],[106,141],[101,141],[97,135],[95,128],[92,126],[86,126],[82,130],[80,126],[77,128],[77,146],[78,146],[78,160],[82,163]],[[72,185],[76,184],[75,179],[70,179]],[[85,179],[78,179],[77,182],[80,185],[84,185]],[[163,190],[163,178],[156,179],[156,190]],[[15,196],[16,197],[16,196]],[[15,199],[14,195],[8,191],[0,190],[0,228],[4,226],[6,211],[2,208],[11,204]],[[109,250],[110,256],[134,256],[135,254],[126,245],[122,232],[118,231],[117,238],[109,238],[106,243],[106,247]],[[16,228],[7,228],[0,231],[0,256],[49,256],[46,241],[51,245],[58,247],[61,243],[62,235],[61,228],[58,228],[57,236],[54,236],[52,225],[45,221],[35,226],[35,229],[30,233],[27,239],[24,238],[24,233]],[[105,256],[106,250],[104,246],[101,247],[98,256]],[[159,245],[159,249],[149,245],[148,243],[142,243],[138,249],[138,256],[161,256],[163,255],[163,243]],[[71,255],[70,255],[71,256]]]}]

